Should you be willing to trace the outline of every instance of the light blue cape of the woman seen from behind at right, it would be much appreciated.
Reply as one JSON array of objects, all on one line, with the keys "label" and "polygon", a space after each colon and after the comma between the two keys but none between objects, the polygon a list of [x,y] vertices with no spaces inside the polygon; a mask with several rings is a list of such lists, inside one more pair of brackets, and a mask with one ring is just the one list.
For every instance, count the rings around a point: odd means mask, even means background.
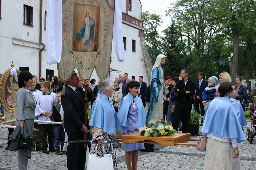
[{"label": "light blue cape of the woman seen from behind at right", "polygon": [[235,108],[226,95],[215,98],[208,105],[202,133],[205,136],[212,133],[215,136],[236,138],[237,143],[245,140]]}]

